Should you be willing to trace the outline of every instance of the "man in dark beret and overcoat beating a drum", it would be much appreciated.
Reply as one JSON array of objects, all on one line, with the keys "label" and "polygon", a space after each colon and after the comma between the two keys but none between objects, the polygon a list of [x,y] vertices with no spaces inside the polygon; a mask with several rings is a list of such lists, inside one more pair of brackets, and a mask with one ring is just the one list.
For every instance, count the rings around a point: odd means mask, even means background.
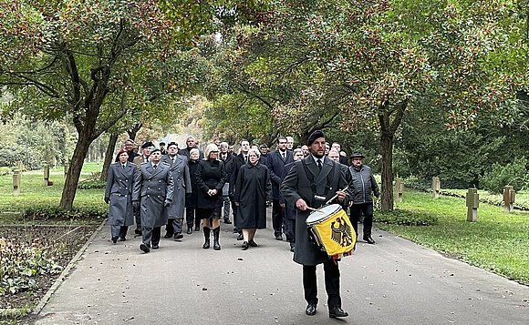
[{"label": "man in dark beret and overcoat beating a drum", "polygon": [[[330,318],[347,317],[342,310],[340,298],[340,271],[338,264],[327,253],[310,242],[306,231],[306,218],[310,208],[320,208],[330,198],[337,196],[330,203],[347,207],[351,198],[349,190],[340,188],[348,186],[346,173],[335,161],[325,157],[325,136],[322,131],[315,131],[309,137],[307,145],[310,155],[294,163],[294,167],[281,183],[281,195],[288,204],[296,207],[296,249],[294,261],[303,265],[303,289],[307,302],[306,315],[316,314],[317,285],[316,265],[323,264],[327,290],[327,305]],[[349,187],[350,188],[350,187]]]}]

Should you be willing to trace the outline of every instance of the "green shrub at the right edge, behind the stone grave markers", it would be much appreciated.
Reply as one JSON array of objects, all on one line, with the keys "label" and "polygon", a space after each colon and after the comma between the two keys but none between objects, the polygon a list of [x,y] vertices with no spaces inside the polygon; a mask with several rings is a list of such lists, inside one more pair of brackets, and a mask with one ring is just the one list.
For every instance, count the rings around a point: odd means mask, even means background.
[{"label": "green shrub at the right edge, behind the stone grave markers", "polygon": [[500,194],[505,185],[512,185],[514,190],[522,190],[529,185],[529,175],[527,173],[527,159],[517,158],[513,163],[502,166],[494,163],[491,169],[482,177],[482,188],[491,193]]}]

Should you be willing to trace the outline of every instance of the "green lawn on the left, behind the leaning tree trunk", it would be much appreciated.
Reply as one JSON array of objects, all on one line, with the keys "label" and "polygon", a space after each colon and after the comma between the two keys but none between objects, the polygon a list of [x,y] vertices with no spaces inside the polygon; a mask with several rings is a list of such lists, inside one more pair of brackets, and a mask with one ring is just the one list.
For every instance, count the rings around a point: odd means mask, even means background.
[{"label": "green lawn on the left, behind the leaning tree trunk", "polygon": [[[62,168],[50,169],[62,171]],[[97,163],[86,163],[83,173],[99,172]],[[37,174],[36,174],[37,173]],[[90,178],[91,175],[81,175],[81,179]],[[27,207],[58,206],[64,187],[64,175],[50,175],[52,186],[44,185],[43,171],[32,171],[23,174],[20,185],[20,195],[13,196],[13,176],[0,177],[0,223],[18,224],[20,215],[16,212]],[[104,189],[78,189],[74,200],[74,207],[108,207],[103,201]]]}]

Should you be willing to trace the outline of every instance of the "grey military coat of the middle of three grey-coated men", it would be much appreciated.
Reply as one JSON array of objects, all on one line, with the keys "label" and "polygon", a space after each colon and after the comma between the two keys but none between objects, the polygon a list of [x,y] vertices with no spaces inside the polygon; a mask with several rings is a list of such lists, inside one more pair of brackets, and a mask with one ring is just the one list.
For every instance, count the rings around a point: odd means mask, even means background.
[{"label": "grey military coat of the middle of three grey-coated men", "polygon": [[133,201],[141,198],[141,227],[154,228],[167,224],[167,210],[163,203],[172,201],[173,190],[169,165],[160,162],[154,169],[150,162],[141,164],[132,192]]}]

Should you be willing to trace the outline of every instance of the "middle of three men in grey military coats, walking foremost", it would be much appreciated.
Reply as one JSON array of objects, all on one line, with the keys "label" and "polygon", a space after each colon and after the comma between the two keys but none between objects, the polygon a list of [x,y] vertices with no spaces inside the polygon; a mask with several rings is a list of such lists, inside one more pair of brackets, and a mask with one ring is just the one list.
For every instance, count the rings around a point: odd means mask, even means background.
[{"label": "middle of three men in grey military coats, walking foremost", "polygon": [[167,210],[171,205],[174,184],[170,166],[161,163],[159,147],[150,150],[150,161],[141,164],[136,174],[132,202],[140,205],[141,244],[145,253],[159,249],[161,226],[167,223]]}]

